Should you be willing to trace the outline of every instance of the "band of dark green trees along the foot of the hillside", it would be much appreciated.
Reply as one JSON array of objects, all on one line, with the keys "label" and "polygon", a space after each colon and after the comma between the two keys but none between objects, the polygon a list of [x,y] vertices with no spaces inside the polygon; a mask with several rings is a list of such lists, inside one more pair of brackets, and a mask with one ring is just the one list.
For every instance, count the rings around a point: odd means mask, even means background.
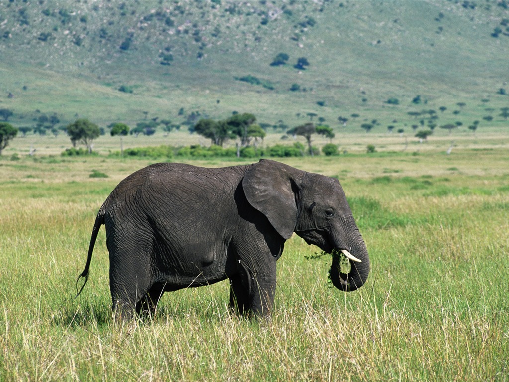
[{"label": "band of dark green trees along the foot of the hillside", "polygon": [[[280,59],[285,59],[286,56],[280,57]],[[499,92],[499,94],[504,95],[505,91]],[[482,99],[483,103],[489,102],[489,99]],[[216,101],[217,103],[220,100]],[[326,105],[325,101],[317,101],[319,106],[324,107]],[[400,104],[400,100],[397,98],[388,98],[386,101],[387,104],[393,105],[394,107],[398,107]],[[418,104],[427,104],[427,100],[422,98],[420,95],[416,95],[411,99],[411,103]],[[439,124],[439,120],[442,118],[442,115],[445,115],[446,111],[449,111],[454,116],[462,115],[464,108],[466,107],[465,102],[457,102],[453,107],[448,106],[440,106],[438,111],[435,110],[421,110],[421,111],[410,111],[406,112],[406,115],[414,121],[413,123],[409,123],[408,125],[414,130],[414,136],[420,140],[420,142],[427,141],[428,137],[432,135],[435,131],[436,127],[440,127],[441,129],[447,130],[448,134],[452,134],[454,129],[457,129],[463,126],[462,121],[450,121],[450,115],[448,116],[449,121],[445,124]],[[490,115],[485,115],[482,117],[483,121],[491,122],[494,117],[491,115],[493,112],[496,112],[495,108],[486,107],[485,111],[490,113]],[[498,117],[501,117],[504,121],[509,119],[509,107],[501,107],[499,108],[500,113],[497,114]],[[332,129],[325,125],[325,118],[319,116],[317,113],[308,112],[308,113],[297,113],[296,116],[298,118],[307,117],[309,122],[298,125],[296,127],[289,128],[284,121],[280,120],[274,125],[270,124],[258,124],[257,118],[254,115],[249,113],[232,113],[233,115],[224,120],[212,120],[207,118],[207,115],[200,111],[192,111],[187,112],[184,108],[180,108],[178,112],[178,117],[183,118],[184,121],[180,123],[174,123],[171,120],[159,120],[158,117],[148,118],[148,112],[143,112],[144,119],[140,122],[137,122],[134,127],[129,127],[123,123],[114,123],[110,124],[108,128],[110,129],[110,134],[112,136],[119,136],[120,138],[120,148],[121,154],[123,153],[123,138],[128,135],[134,135],[137,137],[139,134],[143,135],[152,135],[156,132],[157,128],[162,126],[162,130],[164,132],[171,132],[174,129],[180,129],[182,125],[188,126],[191,133],[196,132],[197,134],[202,135],[203,137],[210,139],[211,143],[214,146],[223,147],[223,145],[228,141],[235,142],[235,151],[237,156],[247,155],[246,152],[251,152],[252,149],[246,149],[247,147],[251,147],[254,149],[254,152],[258,152],[258,146],[261,141],[266,137],[266,130],[269,127],[272,127],[274,131],[281,130],[285,131],[286,137],[288,136],[297,139],[298,137],[303,137],[305,143],[307,144],[306,152],[309,155],[315,155],[318,153],[318,150],[313,148],[312,146],[312,137],[313,134],[322,135],[323,137],[331,140],[334,138],[334,133]],[[5,123],[11,117],[14,116],[14,112],[9,108],[1,108],[0,109],[0,118],[2,118]],[[19,118],[19,117],[18,117]],[[26,117],[25,117],[26,118]],[[353,113],[348,117],[339,116],[337,117],[337,121],[343,126],[346,127],[350,121],[360,121],[360,114]],[[318,123],[315,125],[313,123],[314,120],[318,120]],[[61,123],[59,116],[56,113],[53,114],[45,114],[41,113],[39,110],[36,110],[36,115],[33,117],[33,125],[32,126],[20,126],[18,128],[12,127],[16,130],[16,133],[13,135],[12,129],[7,129],[6,125],[3,124],[4,130],[2,131],[2,147],[3,150],[12,140],[16,137],[17,133],[20,132],[23,137],[30,131],[33,131],[34,134],[46,135],[48,132],[52,134],[58,135],[59,132],[63,131],[71,140],[73,148],[73,153],[78,153],[79,150],[76,149],[78,144],[83,144],[86,147],[86,152],[91,153],[93,150],[94,141],[101,135],[104,134],[104,128],[100,128],[96,124],[90,122],[86,119],[78,119],[73,123],[70,123],[66,126],[60,125]],[[389,133],[393,131],[397,131],[399,134],[404,133],[404,129],[402,127],[397,126],[398,123],[401,125],[401,121],[392,120],[391,123],[387,126],[387,130]],[[375,126],[379,126],[381,123],[374,119],[371,122],[367,119],[362,120],[361,123],[355,123],[355,126],[359,126],[369,133]],[[473,134],[476,134],[477,129],[482,123],[479,120],[475,120],[469,124],[467,127]],[[407,126],[405,123],[404,126]],[[419,129],[420,128],[420,129]],[[417,131],[418,130],[418,131]],[[337,153],[337,146],[333,145],[329,142],[326,145],[326,148],[322,148],[322,152],[326,155],[333,155]],[[202,150],[203,151],[203,150]]]}]

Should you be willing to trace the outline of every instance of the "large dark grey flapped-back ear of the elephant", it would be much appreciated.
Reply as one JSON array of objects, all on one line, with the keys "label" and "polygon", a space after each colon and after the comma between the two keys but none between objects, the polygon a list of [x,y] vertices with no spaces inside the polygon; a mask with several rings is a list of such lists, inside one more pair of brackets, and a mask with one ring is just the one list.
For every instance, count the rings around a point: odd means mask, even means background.
[{"label": "large dark grey flapped-back ear of the elephant", "polygon": [[274,160],[262,159],[251,166],[242,179],[249,204],[262,212],[285,239],[297,224],[296,178],[301,171]]}]

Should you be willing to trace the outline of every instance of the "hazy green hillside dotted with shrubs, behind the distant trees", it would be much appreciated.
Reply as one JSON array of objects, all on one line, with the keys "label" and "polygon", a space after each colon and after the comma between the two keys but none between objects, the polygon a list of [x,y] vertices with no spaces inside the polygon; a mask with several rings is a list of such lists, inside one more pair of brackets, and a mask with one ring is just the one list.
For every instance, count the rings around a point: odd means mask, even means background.
[{"label": "hazy green hillside dotted with shrubs, behind the distant trees", "polygon": [[[39,113],[107,125],[238,111],[287,125],[316,114],[339,126],[339,116],[358,114],[359,124],[385,128],[413,123],[408,112],[464,103],[470,123],[509,103],[508,8],[500,0],[2,0],[0,108],[16,124]],[[271,65],[278,55],[281,65]],[[300,58],[308,65],[296,68]]]}]

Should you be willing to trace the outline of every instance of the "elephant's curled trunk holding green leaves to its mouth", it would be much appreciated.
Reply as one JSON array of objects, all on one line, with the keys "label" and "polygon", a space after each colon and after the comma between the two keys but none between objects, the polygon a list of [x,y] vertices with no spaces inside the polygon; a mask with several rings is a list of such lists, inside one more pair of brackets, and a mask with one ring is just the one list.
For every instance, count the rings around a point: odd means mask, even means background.
[{"label": "elephant's curled trunk holding green leaves to its mouth", "polygon": [[348,259],[350,262],[350,271],[342,272],[341,265],[345,267],[345,261],[342,261],[343,255],[341,251],[332,252],[332,265],[330,266],[329,276],[332,284],[344,292],[352,292],[359,289],[366,281],[367,275],[370,273],[370,258],[367,255],[366,244],[362,239],[359,231],[354,229],[354,237],[348,240],[350,244],[349,252],[354,258],[360,261]]}]

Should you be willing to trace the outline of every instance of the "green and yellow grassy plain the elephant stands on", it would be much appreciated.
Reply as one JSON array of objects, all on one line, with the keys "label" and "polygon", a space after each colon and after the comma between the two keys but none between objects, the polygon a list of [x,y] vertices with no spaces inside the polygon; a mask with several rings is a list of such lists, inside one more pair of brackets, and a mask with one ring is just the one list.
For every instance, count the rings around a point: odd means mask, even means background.
[{"label": "green and yellow grassy plain the elephant stands on", "polygon": [[450,155],[449,137],[406,151],[391,139],[284,159],[341,180],[372,261],[359,291],[331,289],[329,258],[306,259],[319,250],[294,235],[271,321],[232,316],[221,282],[167,293],[154,321],[127,325],[111,318],[104,229],[78,299],[75,279],[101,203],[150,161],[107,157],[117,140],[86,158],[55,155],[50,138],[31,158],[14,140],[0,159],[0,380],[507,380],[506,138],[465,136]]}]

